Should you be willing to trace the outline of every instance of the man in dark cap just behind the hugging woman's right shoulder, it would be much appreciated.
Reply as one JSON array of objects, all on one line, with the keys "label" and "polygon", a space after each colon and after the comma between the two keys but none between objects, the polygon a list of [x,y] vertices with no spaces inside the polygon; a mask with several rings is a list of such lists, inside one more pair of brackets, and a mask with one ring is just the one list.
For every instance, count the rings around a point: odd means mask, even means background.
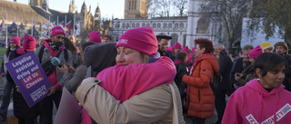
[{"label": "man in dark cap just behind the hugging woman's right shoulder", "polygon": [[165,51],[170,39],[172,39],[171,36],[156,35],[156,40],[157,40],[157,44],[158,44],[157,52],[160,52],[161,56],[169,57],[173,62],[175,62],[176,55],[174,55],[172,52]]}]

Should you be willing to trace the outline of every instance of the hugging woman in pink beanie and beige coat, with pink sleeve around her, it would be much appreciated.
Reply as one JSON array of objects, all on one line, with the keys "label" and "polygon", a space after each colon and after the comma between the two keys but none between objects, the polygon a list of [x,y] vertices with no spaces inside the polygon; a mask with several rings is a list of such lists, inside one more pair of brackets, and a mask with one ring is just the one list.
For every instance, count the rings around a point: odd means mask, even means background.
[{"label": "hugging woman in pink beanie and beige coat, with pink sleeve around her", "polygon": [[148,61],[159,53],[154,30],[130,29],[115,47],[116,65],[86,79],[75,91],[89,115],[97,123],[185,124],[174,62],[164,56]]}]

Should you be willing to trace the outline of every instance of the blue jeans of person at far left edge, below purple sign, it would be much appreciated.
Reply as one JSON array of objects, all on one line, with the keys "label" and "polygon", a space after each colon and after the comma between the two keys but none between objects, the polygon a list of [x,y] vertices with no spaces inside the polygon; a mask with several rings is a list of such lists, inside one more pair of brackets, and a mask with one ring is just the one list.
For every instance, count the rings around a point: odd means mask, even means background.
[{"label": "blue jeans of person at far left edge, below purple sign", "polygon": [[11,91],[15,87],[15,82],[8,82],[6,78],[3,79],[4,79],[4,93],[2,97],[2,104],[0,107],[0,116],[6,117],[10,103]]}]

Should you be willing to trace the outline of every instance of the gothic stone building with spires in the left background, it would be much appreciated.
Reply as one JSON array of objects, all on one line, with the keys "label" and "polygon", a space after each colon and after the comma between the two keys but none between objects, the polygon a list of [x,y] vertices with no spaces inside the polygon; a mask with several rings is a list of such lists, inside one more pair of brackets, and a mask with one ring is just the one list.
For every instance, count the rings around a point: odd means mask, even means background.
[{"label": "gothic stone building with spires in the left background", "polygon": [[[0,18],[5,19],[5,24],[3,26],[3,31],[0,33],[0,42],[5,43],[10,38],[17,35],[17,26],[14,26],[12,33],[7,33],[7,40],[5,39],[6,27],[9,30],[10,25],[15,22],[18,25],[18,35],[22,38],[25,34],[32,33],[32,27],[35,24],[35,32],[33,35],[37,40],[45,32],[44,24],[57,25],[58,23],[71,21],[71,33],[74,32],[74,25],[76,22],[80,22],[81,35],[79,41],[82,38],[86,41],[88,33],[92,31],[100,31],[101,34],[108,32],[108,29],[102,29],[101,14],[100,9],[97,6],[95,9],[95,14],[91,14],[91,6],[89,6],[89,11],[87,11],[85,2],[82,5],[82,10],[80,13],[75,11],[75,0],[70,1],[68,12],[61,12],[57,10],[50,9],[47,6],[47,1],[45,0],[30,0],[29,5],[20,4],[16,2],[0,0]],[[75,21],[74,21],[75,19]],[[75,24],[74,24],[75,22]],[[43,25],[42,25],[43,24]],[[111,22],[107,28],[110,28]],[[50,30],[50,27],[48,30]],[[65,32],[68,34],[68,29],[64,27]],[[102,30],[101,30],[102,29]],[[43,31],[43,33],[41,33]],[[48,35],[48,33],[46,33]]]}]

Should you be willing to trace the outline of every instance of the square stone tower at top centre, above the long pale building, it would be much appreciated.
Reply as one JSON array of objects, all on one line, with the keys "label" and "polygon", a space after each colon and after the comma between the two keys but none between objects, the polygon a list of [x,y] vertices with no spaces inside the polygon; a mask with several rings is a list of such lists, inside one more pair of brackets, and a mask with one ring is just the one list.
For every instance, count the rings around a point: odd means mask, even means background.
[{"label": "square stone tower at top centre, above the long pale building", "polygon": [[149,0],[125,0],[125,19],[147,18]]}]

